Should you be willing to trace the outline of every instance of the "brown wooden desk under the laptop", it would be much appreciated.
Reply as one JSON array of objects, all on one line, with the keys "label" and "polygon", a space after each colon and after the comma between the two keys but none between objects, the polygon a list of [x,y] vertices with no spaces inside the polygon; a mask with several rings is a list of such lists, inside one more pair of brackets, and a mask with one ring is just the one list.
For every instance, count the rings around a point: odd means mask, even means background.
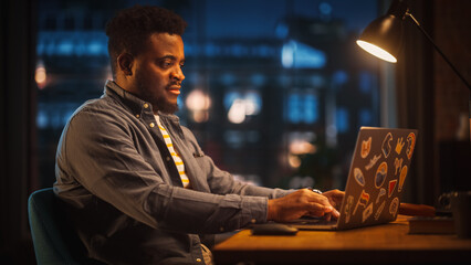
[{"label": "brown wooden desk under the laptop", "polygon": [[243,230],[213,250],[218,265],[254,264],[470,264],[471,240],[408,234],[407,219],[348,231],[300,231],[255,236]]}]

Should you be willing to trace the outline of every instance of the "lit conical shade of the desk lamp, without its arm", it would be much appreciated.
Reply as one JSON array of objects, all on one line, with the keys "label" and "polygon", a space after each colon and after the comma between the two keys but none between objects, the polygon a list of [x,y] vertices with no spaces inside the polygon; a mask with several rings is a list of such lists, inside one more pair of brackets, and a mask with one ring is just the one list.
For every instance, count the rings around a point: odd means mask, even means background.
[{"label": "lit conical shade of the desk lamp, without its arm", "polygon": [[374,20],[362,33],[356,43],[370,54],[391,62],[397,55],[402,41],[402,19],[395,14],[385,14]]}]

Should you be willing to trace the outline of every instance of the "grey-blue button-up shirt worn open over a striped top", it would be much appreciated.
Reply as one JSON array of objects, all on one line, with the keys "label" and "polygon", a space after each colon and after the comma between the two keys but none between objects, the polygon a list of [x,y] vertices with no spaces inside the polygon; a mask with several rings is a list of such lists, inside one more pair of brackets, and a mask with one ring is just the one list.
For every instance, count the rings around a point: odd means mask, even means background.
[{"label": "grey-blue button-up shirt worn open over a striped top", "polygon": [[191,189],[182,188],[151,105],[112,81],[62,132],[54,192],[90,257],[109,264],[203,264],[199,235],[266,222],[268,199],[290,192],[234,181],[177,116],[158,115]]}]

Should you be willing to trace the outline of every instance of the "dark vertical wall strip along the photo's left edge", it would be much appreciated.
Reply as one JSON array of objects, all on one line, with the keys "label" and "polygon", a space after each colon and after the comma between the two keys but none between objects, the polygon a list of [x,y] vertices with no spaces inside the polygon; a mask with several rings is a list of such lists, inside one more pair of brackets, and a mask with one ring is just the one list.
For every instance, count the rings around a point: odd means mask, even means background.
[{"label": "dark vertical wall strip along the photo's left edge", "polygon": [[0,4],[0,263],[33,264],[27,200],[34,178],[35,1]]}]

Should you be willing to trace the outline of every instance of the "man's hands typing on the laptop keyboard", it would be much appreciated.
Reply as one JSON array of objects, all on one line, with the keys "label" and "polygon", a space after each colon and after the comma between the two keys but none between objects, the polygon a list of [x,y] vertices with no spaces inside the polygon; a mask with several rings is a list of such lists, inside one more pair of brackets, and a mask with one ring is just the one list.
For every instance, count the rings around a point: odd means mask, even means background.
[{"label": "man's hands typing on the laptop keyboard", "polygon": [[326,216],[338,218],[335,209],[342,203],[344,192],[332,190],[323,194],[315,193],[308,189],[295,191],[279,199],[269,200],[269,221],[286,222],[301,216]]}]

